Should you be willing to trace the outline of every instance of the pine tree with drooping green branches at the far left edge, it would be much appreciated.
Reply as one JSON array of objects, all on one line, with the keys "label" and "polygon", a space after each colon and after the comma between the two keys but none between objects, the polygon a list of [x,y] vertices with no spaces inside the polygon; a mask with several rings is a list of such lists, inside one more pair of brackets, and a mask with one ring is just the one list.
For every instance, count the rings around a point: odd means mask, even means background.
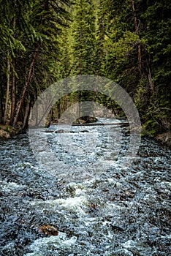
[{"label": "pine tree with drooping green branches at the far left edge", "polygon": [[[17,72],[15,70],[15,59],[16,55],[22,54],[26,48],[23,42],[18,39],[21,37],[20,31],[28,32],[27,20],[24,18],[23,13],[30,7],[30,1],[0,1],[0,20],[1,20],[1,63],[4,68],[7,69],[7,98],[5,103],[5,108],[3,110],[3,102],[1,102],[1,116],[4,115],[4,123],[7,121],[7,111],[9,96],[11,95],[11,116],[14,114],[15,109],[15,78],[17,77]],[[1,73],[2,75],[2,73]],[[12,85],[12,86],[11,86]],[[1,91],[4,93],[5,89],[3,84],[1,84]],[[12,87],[12,88],[11,88]],[[9,92],[11,94],[9,94]],[[2,97],[1,100],[3,101]]]}]

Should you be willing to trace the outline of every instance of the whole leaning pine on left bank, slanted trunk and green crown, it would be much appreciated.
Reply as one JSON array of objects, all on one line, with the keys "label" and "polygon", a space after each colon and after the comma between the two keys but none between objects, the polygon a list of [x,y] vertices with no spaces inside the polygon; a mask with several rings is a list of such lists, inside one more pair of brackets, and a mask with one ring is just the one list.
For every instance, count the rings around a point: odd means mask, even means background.
[{"label": "whole leaning pine on left bank, slanted trunk and green crown", "polygon": [[[17,125],[23,102],[26,99],[34,68],[36,67],[39,57],[39,50],[41,49],[43,55],[48,56],[49,50],[57,43],[58,36],[61,33],[61,26],[64,26],[68,19],[68,12],[64,9],[64,5],[69,4],[71,4],[71,1],[61,0],[57,2],[54,0],[37,0],[32,6],[32,12],[29,13],[29,18],[34,32],[34,49],[28,68],[28,75],[23,86],[23,92],[20,95],[20,101],[16,109],[12,124],[13,127]],[[53,53],[51,52],[50,56],[52,55]],[[50,57],[48,57],[48,59],[50,59]]]}]

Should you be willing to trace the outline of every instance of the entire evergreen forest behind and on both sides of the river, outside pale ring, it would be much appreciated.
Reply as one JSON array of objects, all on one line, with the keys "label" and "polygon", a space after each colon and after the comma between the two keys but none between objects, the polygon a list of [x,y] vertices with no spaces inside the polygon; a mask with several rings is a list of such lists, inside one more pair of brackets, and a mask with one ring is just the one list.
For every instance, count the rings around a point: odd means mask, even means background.
[{"label": "entire evergreen forest behind and on both sides of the river, outside pale ring", "polygon": [[[170,13],[169,0],[0,0],[0,123],[26,129],[31,107],[52,83],[100,75],[132,97],[143,134],[168,134]],[[85,99],[83,92],[66,95],[53,118]],[[107,97],[98,101],[120,113]]]}]

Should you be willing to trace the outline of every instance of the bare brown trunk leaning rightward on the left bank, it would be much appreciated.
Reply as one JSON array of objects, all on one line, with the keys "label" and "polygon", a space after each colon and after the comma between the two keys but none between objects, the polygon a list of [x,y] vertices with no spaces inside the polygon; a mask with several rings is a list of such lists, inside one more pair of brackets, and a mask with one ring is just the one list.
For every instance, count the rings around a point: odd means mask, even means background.
[{"label": "bare brown trunk leaning rightward on the left bank", "polygon": [[24,86],[24,88],[23,88],[23,94],[21,94],[20,102],[18,103],[18,107],[17,107],[17,109],[16,109],[15,118],[14,118],[14,121],[13,121],[13,124],[12,124],[13,127],[16,127],[16,126],[17,126],[17,123],[18,123],[18,118],[19,118],[19,115],[20,115],[20,110],[21,110],[21,108],[22,108],[24,99],[26,98],[26,92],[27,92],[27,90],[28,90],[28,86],[29,86],[29,84],[30,84],[31,77],[32,77],[32,74],[33,74],[33,70],[34,70],[34,65],[35,65],[36,60],[37,60],[37,53],[38,53],[38,51],[39,51],[39,47],[40,47],[40,45],[38,44],[38,45],[37,45],[37,48],[36,48],[36,50],[35,50],[33,59],[32,59],[32,61],[31,61],[30,69],[29,69],[29,72],[28,72],[28,78],[27,78],[26,83],[25,83],[25,86]]}]

